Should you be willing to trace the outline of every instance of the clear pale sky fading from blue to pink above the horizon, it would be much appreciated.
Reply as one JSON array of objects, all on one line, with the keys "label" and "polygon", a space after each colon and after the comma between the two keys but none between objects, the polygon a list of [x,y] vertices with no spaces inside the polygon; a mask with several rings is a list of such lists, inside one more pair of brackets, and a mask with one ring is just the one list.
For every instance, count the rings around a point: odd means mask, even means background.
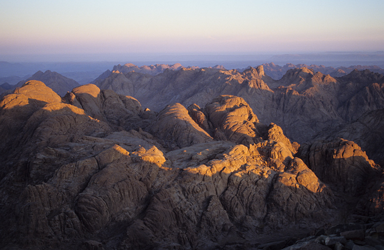
[{"label": "clear pale sky fading from blue to pink above the horizon", "polygon": [[1,56],[383,51],[383,0],[0,0]]}]

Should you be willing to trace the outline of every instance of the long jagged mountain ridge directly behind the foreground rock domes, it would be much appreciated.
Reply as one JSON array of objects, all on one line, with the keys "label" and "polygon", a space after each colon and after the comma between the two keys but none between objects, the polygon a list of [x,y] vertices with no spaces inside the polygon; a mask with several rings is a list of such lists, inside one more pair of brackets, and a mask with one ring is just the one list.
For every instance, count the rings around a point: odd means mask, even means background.
[{"label": "long jagged mountain ridge directly behind the foreground rock domes", "polygon": [[291,69],[274,80],[263,66],[243,72],[182,68],[155,76],[112,72],[95,82],[102,89],[133,96],[154,111],[174,102],[204,107],[214,96],[240,96],[261,122],[276,123],[299,143],[309,142],[322,130],[346,125],[365,112],[384,108],[383,83],[383,75],[371,71],[355,70],[334,78],[307,68]]}]

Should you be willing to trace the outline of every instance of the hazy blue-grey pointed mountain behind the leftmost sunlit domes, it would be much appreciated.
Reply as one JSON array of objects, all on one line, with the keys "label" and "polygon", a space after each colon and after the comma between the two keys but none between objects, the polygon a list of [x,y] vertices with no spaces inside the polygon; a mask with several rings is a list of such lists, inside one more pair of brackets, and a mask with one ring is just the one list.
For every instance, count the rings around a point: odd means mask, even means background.
[{"label": "hazy blue-grey pointed mountain behind the leftmost sunlit domes", "polygon": [[75,80],[65,77],[57,72],[52,71],[38,71],[29,77],[25,81],[20,81],[16,87],[21,87],[24,83],[30,80],[43,81],[46,86],[51,88],[60,96],[64,96],[68,91],[71,91],[73,88],[79,86]]}]

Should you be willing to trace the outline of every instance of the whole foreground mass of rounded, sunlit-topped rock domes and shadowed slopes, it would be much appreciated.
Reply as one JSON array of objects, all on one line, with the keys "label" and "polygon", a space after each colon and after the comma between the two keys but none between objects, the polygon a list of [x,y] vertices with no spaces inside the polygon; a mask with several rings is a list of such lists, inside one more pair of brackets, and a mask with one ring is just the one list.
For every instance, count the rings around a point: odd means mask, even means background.
[{"label": "whole foreground mass of rounded, sunlit-topped rock domes and shadowed slopes", "polygon": [[291,142],[240,97],[157,113],[28,81],[0,133],[1,248],[384,248],[382,167],[352,141]]}]

